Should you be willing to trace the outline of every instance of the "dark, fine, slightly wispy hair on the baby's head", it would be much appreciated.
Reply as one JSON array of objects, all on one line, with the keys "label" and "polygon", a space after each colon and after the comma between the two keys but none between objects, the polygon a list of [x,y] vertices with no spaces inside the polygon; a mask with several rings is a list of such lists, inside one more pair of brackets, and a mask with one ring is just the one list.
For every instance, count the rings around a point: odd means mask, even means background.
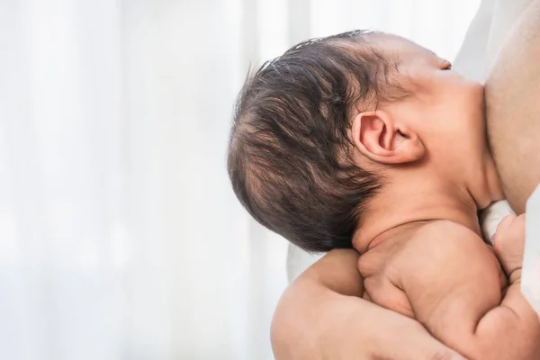
[{"label": "dark, fine, slightly wispy hair on the baby's head", "polygon": [[349,31],[307,40],[247,77],[229,141],[239,201],[268,229],[308,251],[352,247],[380,175],[349,157],[351,117],[406,96],[394,61]]}]

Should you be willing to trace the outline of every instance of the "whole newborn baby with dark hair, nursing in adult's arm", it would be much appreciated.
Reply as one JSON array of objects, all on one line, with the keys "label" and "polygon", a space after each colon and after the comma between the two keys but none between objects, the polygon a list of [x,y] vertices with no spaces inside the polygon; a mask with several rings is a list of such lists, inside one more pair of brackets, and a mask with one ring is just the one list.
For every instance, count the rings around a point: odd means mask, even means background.
[{"label": "whole newborn baby with dark hair, nursing in adult's arm", "polygon": [[503,196],[483,111],[482,85],[408,40],[309,40],[247,79],[229,176],[299,247],[355,247],[366,300],[470,359],[538,359],[540,321],[519,292],[524,218],[503,220],[494,249],[480,235],[477,211]]}]

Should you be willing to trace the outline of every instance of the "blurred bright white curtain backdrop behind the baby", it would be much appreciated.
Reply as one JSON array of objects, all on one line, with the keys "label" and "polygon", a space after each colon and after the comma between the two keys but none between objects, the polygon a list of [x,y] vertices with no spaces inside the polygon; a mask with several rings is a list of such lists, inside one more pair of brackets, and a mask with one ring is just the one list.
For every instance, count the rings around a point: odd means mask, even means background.
[{"label": "blurred bright white curtain backdrop behind the baby", "polygon": [[0,0],[0,358],[273,359],[283,238],[225,168],[249,65],[391,31],[452,59],[479,0]]}]

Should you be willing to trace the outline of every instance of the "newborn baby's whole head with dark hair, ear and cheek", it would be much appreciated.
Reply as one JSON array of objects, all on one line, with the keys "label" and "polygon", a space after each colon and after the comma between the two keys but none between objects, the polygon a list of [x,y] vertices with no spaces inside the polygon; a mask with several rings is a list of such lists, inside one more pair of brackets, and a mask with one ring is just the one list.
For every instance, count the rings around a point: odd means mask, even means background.
[{"label": "newborn baby's whole head with dark hair, ear and cheek", "polygon": [[449,69],[408,40],[366,31],[309,40],[267,62],[234,115],[228,167],[238,199],[294,244],[326,251],[351,247],[392,186],[451,187],[476,174],[487,153],[482,85]]}]

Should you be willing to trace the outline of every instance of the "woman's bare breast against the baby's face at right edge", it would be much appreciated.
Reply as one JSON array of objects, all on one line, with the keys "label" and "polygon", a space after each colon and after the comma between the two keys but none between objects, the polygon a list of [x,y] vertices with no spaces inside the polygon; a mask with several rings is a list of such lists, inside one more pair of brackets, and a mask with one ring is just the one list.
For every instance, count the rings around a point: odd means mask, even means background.
[{"label": "woman's bare breast against the baby's face at right edge", "polygon": [[[521,0],[523,2],[523,0]],[[510,206],[525,212],[540,183],[540,1],[509,32],[485,85],[491,154]]]}]

